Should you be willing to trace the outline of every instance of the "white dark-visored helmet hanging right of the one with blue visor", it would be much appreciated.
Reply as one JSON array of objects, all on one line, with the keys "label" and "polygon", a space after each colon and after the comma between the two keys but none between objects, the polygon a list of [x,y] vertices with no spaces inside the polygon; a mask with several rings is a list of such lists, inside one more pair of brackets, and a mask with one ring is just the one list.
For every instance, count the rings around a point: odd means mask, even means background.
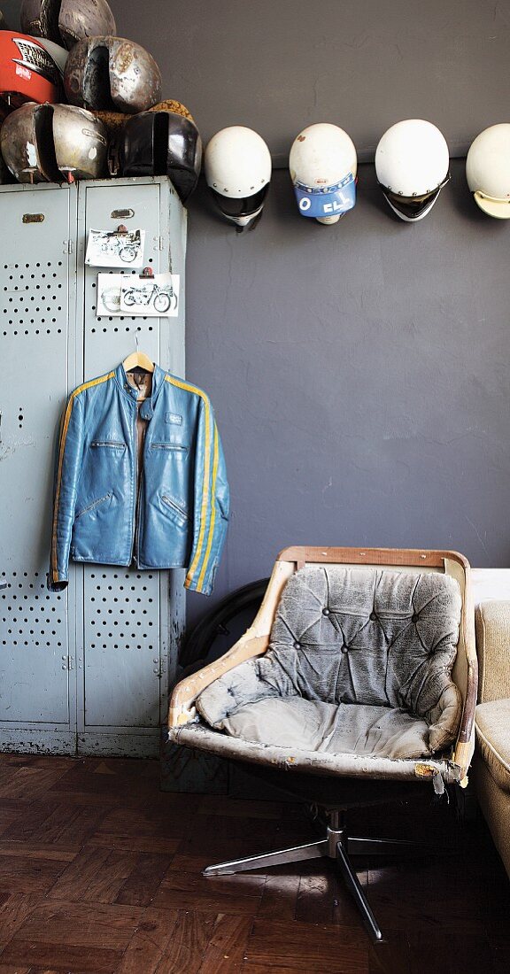
[{"label": "white dark-visored helmet hanging right of the one with blue visor", "polygon": [[376,150],[378,182],[401,220],[421,220],[450,179],[445,136],[431,122],[406,119],[384,132]]}]

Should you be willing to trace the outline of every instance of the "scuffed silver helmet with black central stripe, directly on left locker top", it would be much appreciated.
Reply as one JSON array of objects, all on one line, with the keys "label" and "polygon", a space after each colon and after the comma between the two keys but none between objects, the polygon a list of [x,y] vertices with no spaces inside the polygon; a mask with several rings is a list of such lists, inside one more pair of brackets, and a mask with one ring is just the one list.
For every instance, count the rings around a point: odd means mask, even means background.
[{"label": "scuffed silver helmet with black central stripe, directly on left locker top", "polygon": [[106,130],[91,112],[73,105],[28,101],[0,131],[4,160],[19,182],[74,182],[106,173]]}]

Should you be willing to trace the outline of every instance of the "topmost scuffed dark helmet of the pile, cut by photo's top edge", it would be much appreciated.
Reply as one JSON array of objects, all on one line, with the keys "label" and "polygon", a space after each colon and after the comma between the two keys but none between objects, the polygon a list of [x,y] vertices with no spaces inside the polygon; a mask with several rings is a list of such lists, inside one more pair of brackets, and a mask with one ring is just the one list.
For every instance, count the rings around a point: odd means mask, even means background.
[{"label": "topmost scuffed dark helmet of the pile, cut by photo's top edge", "polygon": [[106,0],[22,0],[19,18],[26,34],[48,37],[68,50],[84,37],[117,30]]}]

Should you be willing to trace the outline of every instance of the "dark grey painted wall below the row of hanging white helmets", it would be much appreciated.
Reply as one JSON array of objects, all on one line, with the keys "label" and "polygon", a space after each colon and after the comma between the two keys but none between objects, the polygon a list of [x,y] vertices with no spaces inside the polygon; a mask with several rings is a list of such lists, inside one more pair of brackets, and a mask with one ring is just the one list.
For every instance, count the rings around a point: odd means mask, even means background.
[{"label": "dark grey painted wall below the row of hanging white helmets", "polygon": [[447,546],[506,564],[510,227],[472,203],[463,162],[419,225],[393,218],[369,165],[333,227],[299,215],[283,171],[246,235],[204,197],[187,347],[233,491],[216,597],[288,543]]}]

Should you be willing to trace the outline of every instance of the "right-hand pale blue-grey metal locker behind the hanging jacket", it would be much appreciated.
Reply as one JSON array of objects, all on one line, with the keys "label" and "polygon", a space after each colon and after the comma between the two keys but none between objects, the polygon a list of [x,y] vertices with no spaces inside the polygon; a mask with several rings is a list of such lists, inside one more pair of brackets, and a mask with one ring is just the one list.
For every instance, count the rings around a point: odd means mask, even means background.
[{"label": "right-hand pale blue-grey metal locker behind the hanging jacket", "polygon": [[[170,269],[181,275],[179,318],[96,318],[98,270],[84,263],[89,230],[113,230],[122,223],[145,230],[145,263],[155,273]],[[185,232],[185,210],[166,178],[81,183],[78,315],[84,380],[133,352],[136,336],[140,350],[184,374]],[[184,573],[94,565],[77,571],[83,591],[77,619],[78,750],[157,755],[167,710],[168,659],[174,668],[183,625]]]}]

